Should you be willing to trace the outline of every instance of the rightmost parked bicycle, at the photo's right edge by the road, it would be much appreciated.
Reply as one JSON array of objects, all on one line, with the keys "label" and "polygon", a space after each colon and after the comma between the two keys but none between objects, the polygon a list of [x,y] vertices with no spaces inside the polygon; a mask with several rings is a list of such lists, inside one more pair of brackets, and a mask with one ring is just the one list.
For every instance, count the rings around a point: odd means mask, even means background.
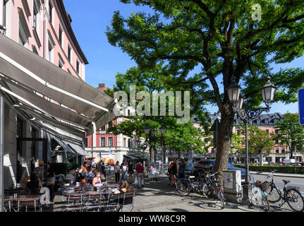
[{"label": "rightmost parked bicycle, at the photo's right edge by the road", "polygon": [[279,205],[279,208],[288,203],[288,206],[295,212],[303,212],[304,210],[304,201],[303,196],[300,194],[300,188],[297,186],[289,186],[290,183],[288,180],[283,180],[284,188],[283,192],[276,186],[274,183],[274,170],[266,178],[271,179],[269,184],[269,189],[267,190],[268,200],[270,203],[276,203],[282,200],[282,203]]}]

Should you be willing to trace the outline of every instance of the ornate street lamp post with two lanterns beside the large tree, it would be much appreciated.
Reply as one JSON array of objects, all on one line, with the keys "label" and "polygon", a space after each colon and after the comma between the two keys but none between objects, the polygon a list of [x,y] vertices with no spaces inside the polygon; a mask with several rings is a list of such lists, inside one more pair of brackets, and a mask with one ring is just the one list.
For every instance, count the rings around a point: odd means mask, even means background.
[{"label": "ornate street lamp post with two lanterns beside the large tree", "polygon": [[242,204],[248,205],[249,201],[249,152],[248,152],[248,121],[254,120],[260,117],[262,112],[270,111],[270,103],[274,100],[274,92],[276,86],[270,83],[270,78],[267,77],[267,83],[262,88],[262,99],[265,102],[266,107],[258,109],[248,109],[248,101],[245,101],[245,109],[243,109],[244,97],[241,94],[241,86],[236,84],[236,79],[233,77],[232,85],[227,88],[229,100],[233,105],[233,112],[238,114],[238,117],[245,123],[245,184],[243,184],[243,198]]}]

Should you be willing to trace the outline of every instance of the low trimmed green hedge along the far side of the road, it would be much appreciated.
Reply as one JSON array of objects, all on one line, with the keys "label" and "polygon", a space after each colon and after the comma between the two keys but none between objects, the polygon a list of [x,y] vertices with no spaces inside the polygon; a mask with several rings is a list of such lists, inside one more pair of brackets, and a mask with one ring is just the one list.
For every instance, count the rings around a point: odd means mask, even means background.
[{"label": "low trimmed green hedge along the far side of the road", "polygon": [[[236,167],[245,168],[244,164],[235,164]],[[256,172],[276,172],[288,173],[288,174],[304,174],[304,167],[297,166],[297,172],[295,166],[284,166],[284,165],[249,165],[250,171]]]}]

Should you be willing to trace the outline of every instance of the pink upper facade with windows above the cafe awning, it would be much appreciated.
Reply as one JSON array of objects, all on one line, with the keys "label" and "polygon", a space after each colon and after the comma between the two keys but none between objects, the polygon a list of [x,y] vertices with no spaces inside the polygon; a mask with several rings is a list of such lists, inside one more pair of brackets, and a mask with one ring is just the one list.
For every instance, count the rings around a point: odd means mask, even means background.
[{"label": "pink upper facade with windows above the cafe awning", "polygon": [[0,0],[4,34],[85,81],[88,64],[62,0]]}]

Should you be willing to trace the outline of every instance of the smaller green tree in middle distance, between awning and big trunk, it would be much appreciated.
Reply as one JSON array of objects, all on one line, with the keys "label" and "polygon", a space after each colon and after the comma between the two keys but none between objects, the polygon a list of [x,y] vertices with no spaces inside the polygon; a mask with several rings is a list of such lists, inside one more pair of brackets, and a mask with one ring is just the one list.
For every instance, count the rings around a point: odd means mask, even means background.
[{"label": "smaller green tree in middle distance, between awning and big trunk", "polygon": [[[164,76],[162,70],[163,67],[159,65],[154,67],[152,70],[145,69],[142,71],[136,67],[132,67],[128,69],[126,73],[117,73],[114,90],[111,92],[109,91],[108,94],[113,96],[115,91],[124,91],[130,95],[130,85],[135,85],[136,93],[146,91],[150,94],[150,100],[152,100],[153,94],[169,91],[166,90],[166,87],[164,87],[161,82],[161,78]],[[168,102],[169,100],[166,101]],[[141,100],[137,100],[135,106],[138,107],[140,102]],[[130,105],[130,100],[128,100],[128,105]],[[169,147],[171,150],[176,150],[178,153],[183,153],[186,150],[193,150],[195,152],[204,151],[206,144],[203,136],[205,133],[201,128],[195,128],[192,121],[188,121],[186,124],[178,124],[176,117],[163,117],[159,116],[159,114],[153,115],[152,101],[150,102],[150,105],[150,115],[128,115],[125,117],[127,119],[126,121],[111,127],[109,132],[147,138],[150,147],[150,160],[152,162],[154,162],[156,157],[154,156],[154,150],[156,148],[155,144],[157,146],[163,144],[165,147]],[[160,109],[159,103],[158,107]],[[166,105],[166,107],[168,107],[168,105]],[[166,132],[163,138],[161,138],[162,136],[158,131],[155,143],[152,130],[154,128],[159,130],[162,125],[165,127]],[[149,136],[145,134],[146,126],[149,126],[151,131]],[[207,124],[205,127],[206,126]]]}]

